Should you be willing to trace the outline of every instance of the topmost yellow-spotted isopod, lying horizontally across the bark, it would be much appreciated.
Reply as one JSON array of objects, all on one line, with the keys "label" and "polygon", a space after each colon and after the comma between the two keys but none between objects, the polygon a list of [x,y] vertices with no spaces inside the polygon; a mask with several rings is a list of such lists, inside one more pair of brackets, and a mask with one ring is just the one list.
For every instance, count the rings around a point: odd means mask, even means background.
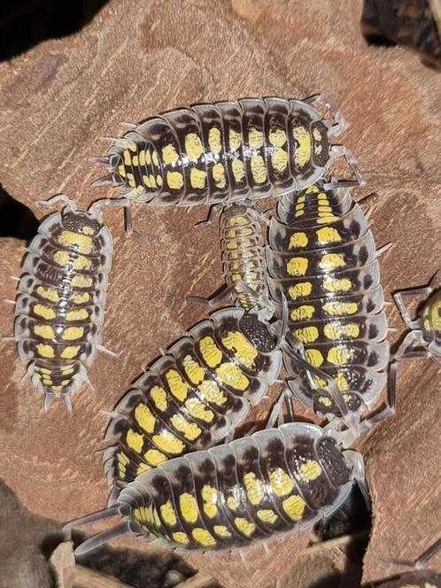
[{"label": "topmost yellow-spotted isopod, lying horizontally across the bark", "polygon": [[352,167],[350,183],[364,182],[352,153],[331,143],[345,123],[321,96],[197,104],[130,127],[112,139],[106,157],[93,158],[110,172],[96,185],[116,183],[128,205],[215,205],[280,196],[316,182],[339,157]]}]

